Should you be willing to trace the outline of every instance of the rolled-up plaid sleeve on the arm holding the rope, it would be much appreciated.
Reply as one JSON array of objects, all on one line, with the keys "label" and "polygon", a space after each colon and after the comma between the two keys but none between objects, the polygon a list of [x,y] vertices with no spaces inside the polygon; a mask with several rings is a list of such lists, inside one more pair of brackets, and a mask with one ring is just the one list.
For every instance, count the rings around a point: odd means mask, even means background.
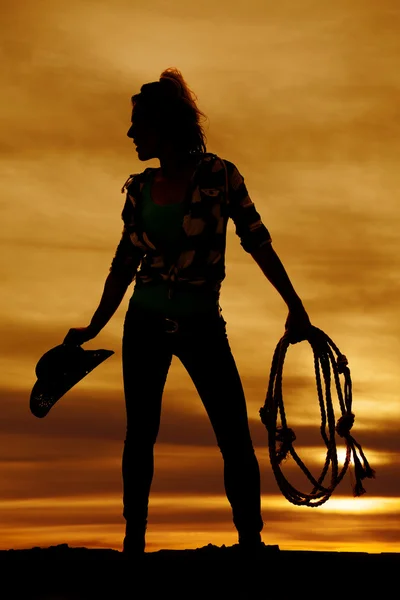
[{"label": "rolled-up plaid sleeve on the arm holding the rope", "polygon": [[265,244],[270,244],[271,235],[249,196],[243,176],[233,163],[224,162],[228,176],[229,216],[235,224],[241,246],[251,253]]}]

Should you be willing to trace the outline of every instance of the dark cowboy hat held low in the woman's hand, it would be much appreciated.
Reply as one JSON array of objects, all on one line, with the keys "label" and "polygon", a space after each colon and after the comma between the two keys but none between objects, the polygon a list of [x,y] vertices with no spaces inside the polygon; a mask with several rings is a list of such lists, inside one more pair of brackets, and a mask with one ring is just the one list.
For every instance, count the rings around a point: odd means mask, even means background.
[{"label": "dark cowboy hat held low in the woman's hand", "polygon": [[57,400],[112,354],[113,350],[84,350],[72,344],[48,350],[36,365],[37,381],[30,396],[32,414],[45,417]]}]

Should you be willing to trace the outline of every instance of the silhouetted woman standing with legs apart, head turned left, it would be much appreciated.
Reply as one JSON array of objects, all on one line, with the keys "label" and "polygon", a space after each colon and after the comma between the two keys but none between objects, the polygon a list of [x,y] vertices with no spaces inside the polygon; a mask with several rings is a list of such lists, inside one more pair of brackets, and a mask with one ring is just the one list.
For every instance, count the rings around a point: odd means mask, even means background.
[{"label": "silhouetted woman standing with legs apart, head turned left", "polygon": [[122,238],[99,307],[87,327],[70,329],[64,340],[80,345],[94,338],[135,280],[122,339],[123,551],[129,556],[145,549],[153,449],[173,355],[189,373],[215,432],[239,547],[262,546],[259,465],[219,306],[229,217],[244,250],[287,304],[291,341],[305,339],[311,326],[242,175],[232,162],[206,151],[204,114],[196,100],[173,68],[132,97],[127,135],[140,161],[157,158],[160,167],[148,167],[125,183]]}]

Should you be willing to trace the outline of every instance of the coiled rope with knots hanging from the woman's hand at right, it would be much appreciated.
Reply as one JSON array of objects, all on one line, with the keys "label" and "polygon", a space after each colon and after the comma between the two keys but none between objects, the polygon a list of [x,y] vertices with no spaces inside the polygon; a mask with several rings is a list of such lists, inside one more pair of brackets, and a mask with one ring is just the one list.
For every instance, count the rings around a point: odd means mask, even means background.
[{"label": "coiled rope with knots hanging from the woman's hand at right", "polygon": [[[315,507],[321,506],[321,504],[330,498],[337,485],[343,479],[351,459],[354,463],[355,474],[354,496],[361,496],[365,493],[362,480],[366,477],[374,477],[375,472],[371,469],[360,444],[350,434],[355,417],[352,412],[352,382],[346,356],[341,354],[326,333],[317,327],[311,326],[306,341],[311,345],[314,353],[315,377],[321,412],[320,431],[327,449],[325,465],[318,479],[313,477],[294,449],[293,442],[296,439],[296,435],[293,429],[288,427],[286,421],[282,395],[282,377],[285,356],[291,343],[288,332],[282,336],[275,348],[267,395],[265,404],[260,409],[260,416],[268,432],[269,457],[282,494],[289,502],[297,506]],[[334,352],[336,353],[336,358]],[[331,367],[342,413],[337,423],[335,423],[331,394]],[[344,377],[343,392],[339,375],[343,375]],[[322,379],[324,381],[324,389]],[[278,425],[278,413],[280,416],[280,425]],[[346,457],[341,469],[338,466],[336,434],[343,438],[346,443]],[[283,475],[281,464],[289,453],[312,483],[313,489],[310,493],[300,492],[295,489]],[[323,485],[329,467],[331,467],[330,484]]]}]

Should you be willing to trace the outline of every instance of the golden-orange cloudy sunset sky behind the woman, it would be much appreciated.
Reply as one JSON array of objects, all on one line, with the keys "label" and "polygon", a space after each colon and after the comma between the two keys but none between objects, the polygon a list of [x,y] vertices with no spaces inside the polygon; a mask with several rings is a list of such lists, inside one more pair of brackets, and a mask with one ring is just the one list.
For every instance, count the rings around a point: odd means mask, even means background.
[{"label": "golden-orange cloudy sunset sky behind the woman", "polygon": [[[3,0],[1,13],[0,549],[122,548],[121,338],[133,286],[85,345],[115,354],[45,419],[30,413],[29,396],[38,359],[98,306],[122,230],[122,184],[159,164],[138,161],[126,137],[130,97],[177,67],[208,117],[207,149],[236,164],[312,323],[349,360],[353,434],[377,472],[360,498],[348,473],[320,508],[281,494],[258,411],[287,309],[230,224],[221,305],[260,462],[263,541],[399,552],[398,1]],[[289,348],[284,401],[296,449],[319,475],[307,342]],[[236,543],[222,468],[174,358],[149,551]],[[284,469],[296,482],[293,461]]]}]

